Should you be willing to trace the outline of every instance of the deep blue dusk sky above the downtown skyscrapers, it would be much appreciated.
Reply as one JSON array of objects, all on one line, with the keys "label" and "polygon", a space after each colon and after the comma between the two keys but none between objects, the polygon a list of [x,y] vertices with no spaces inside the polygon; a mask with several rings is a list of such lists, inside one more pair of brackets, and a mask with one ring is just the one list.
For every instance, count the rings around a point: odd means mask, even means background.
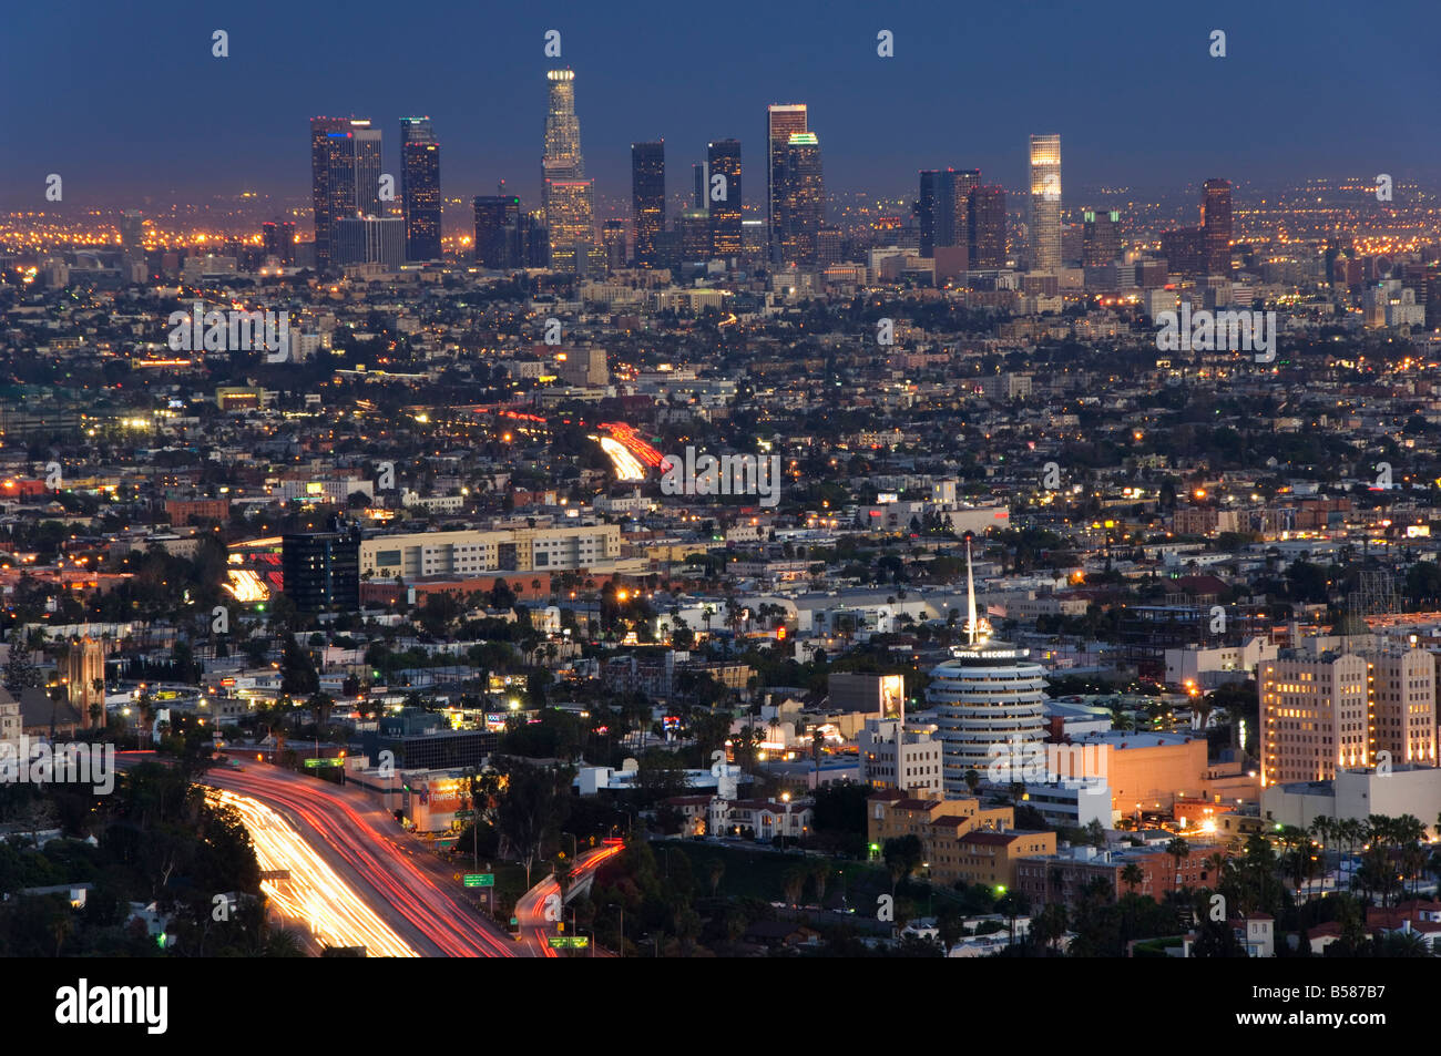
[{"label": "deep blue dusk sky above the downtown skyscrapers", "polygon": [[[576,71],[586,174],[630,193],[630,144],[664,137],[672,190],[738,137],[764,199],[768,102],[808,102],[831,190],[915,190],[978,167],[1022,186],[1026,137],[1061,133],[1068,190],[1298,180],[1441,166],[1441,4],[10,3],[0,39],[0,207],[127,196],[308,193],[307,118],[370,117],[398,169],[429,114],[447,196],[506,177],[533,206],[545,71]],[[210,55],[229,32],[231,56]],[[543,35],[562,33],[546,59]],[[876,32],[896,55],[876,56]],[[1228,58],[1208,53],[1212,29]],[[1068,196],[1069,197],[1069,196]]]}]

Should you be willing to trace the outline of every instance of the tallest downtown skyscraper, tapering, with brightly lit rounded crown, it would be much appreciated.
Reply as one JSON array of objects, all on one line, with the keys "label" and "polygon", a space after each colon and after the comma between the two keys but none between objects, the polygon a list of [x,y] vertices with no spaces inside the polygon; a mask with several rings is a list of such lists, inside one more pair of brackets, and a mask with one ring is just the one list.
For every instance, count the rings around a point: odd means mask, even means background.
[{"label": "tallest downtown skyscraper, tapering, with brightly lit rounded crown", "polygon": [[545,225],[555,271],[585,272],[604,264],[595,245],[595,186],[585,179],[581,154],[581,121],[575,115],[575,72],[546,73],[549,109],[545,120],[545,157],[540,160]]}]

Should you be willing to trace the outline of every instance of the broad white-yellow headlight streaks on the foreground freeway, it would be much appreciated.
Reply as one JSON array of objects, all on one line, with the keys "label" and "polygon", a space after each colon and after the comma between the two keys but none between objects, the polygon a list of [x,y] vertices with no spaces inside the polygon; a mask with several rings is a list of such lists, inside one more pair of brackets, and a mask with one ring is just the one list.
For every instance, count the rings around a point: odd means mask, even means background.
[{"label": "broad white-yellow headlight streaks on the foreground freeway", "polygon": [[285,916],[304,921],[331,947],[365,947],[367,957],[419,957],[285,818],[258,800],[225,789],[210,789],[209,798],[241,815],[262,870],[290,870],[290,880],[261,882],[261,890]]}]

